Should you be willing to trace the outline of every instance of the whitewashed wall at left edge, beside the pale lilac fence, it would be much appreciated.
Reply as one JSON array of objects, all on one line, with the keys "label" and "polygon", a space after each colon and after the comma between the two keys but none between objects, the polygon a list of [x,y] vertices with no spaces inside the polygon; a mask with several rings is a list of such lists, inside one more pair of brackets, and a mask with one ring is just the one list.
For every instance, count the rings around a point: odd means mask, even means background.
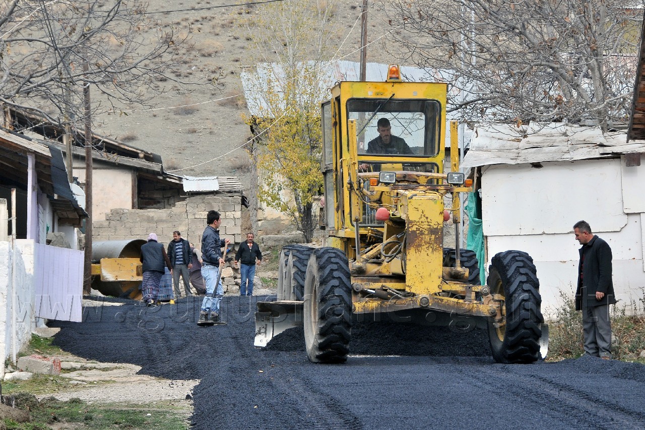
[{"label": "whitewashed wall at left edge, beside the pale lilac fence", "polygon": [[[34,317],[34,276],[26,269],[21,246],[32,240],[16,241],[12,250],[11,243],[0,241],[0,351],[3,360],[13,358],[31,340],[35,328]],[[15,268],[15,271],[14,271]],[[12,274],[13,271],[13,274]],[[15,291],[15,307],[13,295]],[[15,338],[14,338],[15,334]],[[12,351],[15,341],[15,351]],[[4,366],[0,366],[4,373]]]}]

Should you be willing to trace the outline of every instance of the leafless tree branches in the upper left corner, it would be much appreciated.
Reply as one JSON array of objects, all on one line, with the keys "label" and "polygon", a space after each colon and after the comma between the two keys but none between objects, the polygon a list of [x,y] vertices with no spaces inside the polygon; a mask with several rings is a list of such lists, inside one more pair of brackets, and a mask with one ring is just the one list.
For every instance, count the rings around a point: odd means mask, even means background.
[{"label": "leafless tree branches in the upper left corner", "polygon": [[61,125],[83,119],[87,85],[108,104],[94,110],[150,106],[187,35],[140,0],[0,0],[0,103]]}]

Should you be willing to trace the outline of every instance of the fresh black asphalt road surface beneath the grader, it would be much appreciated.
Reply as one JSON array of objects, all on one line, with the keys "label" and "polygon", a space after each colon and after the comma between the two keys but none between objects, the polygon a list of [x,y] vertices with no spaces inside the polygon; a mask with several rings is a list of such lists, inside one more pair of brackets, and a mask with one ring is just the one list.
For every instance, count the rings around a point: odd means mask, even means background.
[{"label": "fresh black asphalt road surface beneath the grader", "polygon": [[224,298],[228,324],[213,327],[195,325],[201,301],[190,299],[84,308],[84,322],[50,325],[78,356],[201,379],[194,429],[645,429],[643,365],[502,365],[483,331],[386,323],[356,325],[346,363],[313,364],[298,329],[253,347],[254,300]]}]

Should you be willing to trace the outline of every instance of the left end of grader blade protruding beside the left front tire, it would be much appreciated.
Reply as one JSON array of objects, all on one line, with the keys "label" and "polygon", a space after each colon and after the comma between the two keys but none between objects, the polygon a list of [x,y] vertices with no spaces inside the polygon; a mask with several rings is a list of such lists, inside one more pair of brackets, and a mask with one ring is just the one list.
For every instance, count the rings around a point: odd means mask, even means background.
[{"label": "left end of grader blade protruding beside the left front tire", "polygon": [[265,347],[273,336],[303,325],[303,302],[257,302],[254,346]]}]

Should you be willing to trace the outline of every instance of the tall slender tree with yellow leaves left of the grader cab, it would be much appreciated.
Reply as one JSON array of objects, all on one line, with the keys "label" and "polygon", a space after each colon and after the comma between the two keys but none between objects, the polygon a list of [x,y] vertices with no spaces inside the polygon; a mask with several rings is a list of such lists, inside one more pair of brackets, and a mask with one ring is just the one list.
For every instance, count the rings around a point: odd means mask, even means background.
[{"label": "tall slender tree with yellow leaves left of the grader cab", "polygon": [[288,214],[308,242],[313,199],[323,186],[320,105],[329,97],[333,8],[333,1],[285,0],[262,6],[248,23],[260,63],[247,89],[256,112],[246,118],[255,133],[250,152],[263,174],[255,194]]}]

